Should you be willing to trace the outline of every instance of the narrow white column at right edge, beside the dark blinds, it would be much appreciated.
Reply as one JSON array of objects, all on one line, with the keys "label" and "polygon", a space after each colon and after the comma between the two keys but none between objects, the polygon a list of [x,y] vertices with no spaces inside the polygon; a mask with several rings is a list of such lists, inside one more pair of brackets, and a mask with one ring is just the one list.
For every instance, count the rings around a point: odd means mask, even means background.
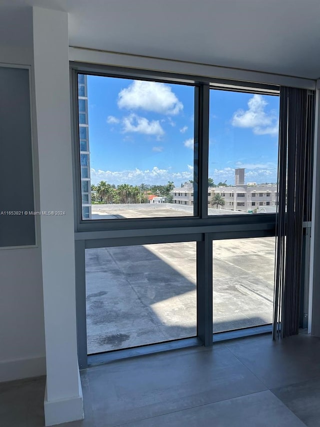
[{"label": "narrow white column at right edge, beside the dark blinds", "polygon": [[320,80],[315,95],[308,332],[320,336]]}]

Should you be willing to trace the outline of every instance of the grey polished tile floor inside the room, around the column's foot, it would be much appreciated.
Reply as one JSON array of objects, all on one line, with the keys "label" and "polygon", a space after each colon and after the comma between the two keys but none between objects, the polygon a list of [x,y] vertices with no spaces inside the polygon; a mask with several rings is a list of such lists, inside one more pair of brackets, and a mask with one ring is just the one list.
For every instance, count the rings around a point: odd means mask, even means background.
[{"label": "grey polished tile floor inside the room, around the column's foot", "polygon": [[[261,335],[81,371],[85,419],[60,427],[320,426],[320,339]],[[0,384],[1,427],[43,427],[44,378]]]}]

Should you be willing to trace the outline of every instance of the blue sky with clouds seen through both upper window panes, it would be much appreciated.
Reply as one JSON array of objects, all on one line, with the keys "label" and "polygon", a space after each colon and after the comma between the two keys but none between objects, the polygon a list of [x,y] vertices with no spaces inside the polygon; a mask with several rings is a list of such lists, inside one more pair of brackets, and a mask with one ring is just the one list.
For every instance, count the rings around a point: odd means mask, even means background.
[{"label": "blue sky with clouds seen through both upper window panes", "polygon": [[[176,186],[193,179],[194,88],[87,77],[91,181]],[[210,91],[209,176],[275,182],[278,97]]]}]

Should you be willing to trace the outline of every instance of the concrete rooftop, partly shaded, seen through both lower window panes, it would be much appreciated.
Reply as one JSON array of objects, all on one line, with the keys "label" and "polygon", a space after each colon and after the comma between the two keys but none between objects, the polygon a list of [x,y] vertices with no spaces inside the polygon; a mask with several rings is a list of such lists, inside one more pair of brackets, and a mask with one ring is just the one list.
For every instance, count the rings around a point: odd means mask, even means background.
[{"label": "concrete rooftop, partly shaded, seen through both lower window panes", "polygon": [[[196,335],[195,242],[86,250],[88,353]],[[213,243],[213,331],[272,322],[274,238]]]}]

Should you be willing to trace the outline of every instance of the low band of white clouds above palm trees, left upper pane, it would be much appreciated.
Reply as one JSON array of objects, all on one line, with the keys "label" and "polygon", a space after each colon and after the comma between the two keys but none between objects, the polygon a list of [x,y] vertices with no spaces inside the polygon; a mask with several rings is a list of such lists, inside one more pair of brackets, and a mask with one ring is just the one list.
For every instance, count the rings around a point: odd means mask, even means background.
[{"label": "low band of white clouds above palm trees, left upper pane", "polygon": [[139,185],[141,182],[145,184],[159,184],[164,185],[168,181],[175,182],[180,185],[181,181],[188,181],[193,179],[193,171],[171,172],[169,169],[159,169],[154,166],[152,169],[140,170],[122,170],[122,171],[102,171],[91,169],[91,182],[97,184],[103,180],[109,184],[131,184]]}]

